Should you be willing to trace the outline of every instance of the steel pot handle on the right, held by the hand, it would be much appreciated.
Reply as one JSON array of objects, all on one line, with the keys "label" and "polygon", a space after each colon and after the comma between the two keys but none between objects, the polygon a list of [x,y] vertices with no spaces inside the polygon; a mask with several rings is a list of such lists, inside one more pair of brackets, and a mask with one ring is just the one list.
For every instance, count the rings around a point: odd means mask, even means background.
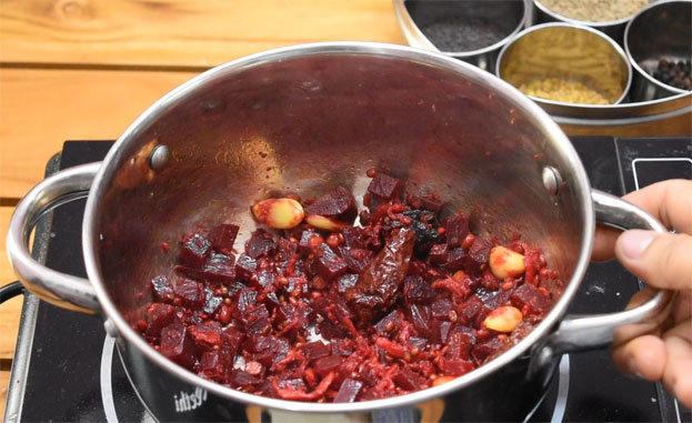
[{"label": "steel pot handle on the right, held by the hand", "polygon": [[[623,230],[646,229],[660,233],[668,232],[668,229],[651,214],[618,197],[592,190],[591,199],[599,223]],[[631,339],[650,332],[670,313],[673,296],[673,292],[662,290],[656,291],[645,303],[628,311],[568,316],[549,336],[539,355],[548,359],[562,353],[605,346],[613,340],[615,329],[625,324],[631,325],[631,330],[628,329]]]}]

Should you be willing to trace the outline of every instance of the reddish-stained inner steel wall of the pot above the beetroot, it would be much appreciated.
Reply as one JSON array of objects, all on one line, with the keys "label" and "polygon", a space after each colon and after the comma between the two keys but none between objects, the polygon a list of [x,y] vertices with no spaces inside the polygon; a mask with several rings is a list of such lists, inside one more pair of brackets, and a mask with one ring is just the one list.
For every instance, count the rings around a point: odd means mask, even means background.
[{"label": "reddish-stained inner steel wall of the pot above the beetroot", "polygon": [[[448,211],[470,215],[475,233],[521,234],[564,281],[572,278],[590,253],[581,245],[592,216],[564,134],[491,74],[392,50],[280,51],[233,62],[169,94],[126,132],[97,187],[88,236],[97,240],[94,283],[130,324],[151,300],[149,281],[173,276],[187,233],[239,224],[240,252],[258,200],[342,185],[360,201],[373,167],[409,192],[439,192]],[[171,158],[152,171],[149,153],[160,144]],[[544,188],[546,165],[562,175],[556,195]]]}]

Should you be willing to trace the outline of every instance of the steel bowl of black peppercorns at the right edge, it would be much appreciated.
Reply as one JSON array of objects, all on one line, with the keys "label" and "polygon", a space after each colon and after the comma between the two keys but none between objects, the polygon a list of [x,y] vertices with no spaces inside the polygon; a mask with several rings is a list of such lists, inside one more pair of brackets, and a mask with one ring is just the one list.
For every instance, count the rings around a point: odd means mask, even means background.
[{"label": "steel bowl of black peppercorns at the right edge", "polygon": [[652,3],[632,19],[624,47],[634,69],[634,101],[690,93],[691,40],[692,1]]}]

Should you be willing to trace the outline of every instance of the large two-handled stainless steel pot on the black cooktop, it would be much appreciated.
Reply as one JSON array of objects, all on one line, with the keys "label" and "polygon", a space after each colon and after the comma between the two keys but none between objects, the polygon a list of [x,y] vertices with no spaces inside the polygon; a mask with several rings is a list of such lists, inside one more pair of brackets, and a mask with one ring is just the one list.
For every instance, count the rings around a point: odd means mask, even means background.
[{"label": "large two-handled stainless steel pot on the black cooktop", "polygon": [[[248,204],[337,184],[358,198],[373,165],[390,168],[412,189],[452,199],[447,205],[467,210],[478,233],[509,239],[519,232],[540,244],[566,282],[545,320],[453,382],[350,404],[238,392],[179,367],[132,330],[150,300],[149,280],[167,272],[178,254],[177,246],[163,252],[162,242],[178,245],[193,229],[235,222],[241,245],[255,224]],[[38,215],[87,190],[89,280],[43,268],[27,246]],[[626,312],[564,316],[584,275],[596,220],[665,231],[640,209],[592,191],[559,127],[492,74],[407,47],[317,43],[220,66],[163,97],[103,162],[59,172],[32,189],[10,222],[8,252],[23,284],[41,299],[102,315],[137,391],[162,420],[245,420],[261,410],[358,417],[353,413],[413,405],[433,406],[442,419],[500,420],[525,415],[561,353],[604,345],[622,324],[651,329],[666,310],[671,295],[659,292]],[[445,409],[445,401],[455,407]]]}]

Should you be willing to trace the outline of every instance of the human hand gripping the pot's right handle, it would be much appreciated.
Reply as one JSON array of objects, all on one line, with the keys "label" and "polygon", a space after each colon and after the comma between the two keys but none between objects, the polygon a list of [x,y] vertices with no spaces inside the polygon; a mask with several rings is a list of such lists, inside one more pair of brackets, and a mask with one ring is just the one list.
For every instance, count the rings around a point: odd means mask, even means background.
[{"label": "human hand gripping the pot's right handle", "polygon": [[[624,199],[676,233],[606,228],[596,231],[593,260],[614,255],[649,286],[630,300],[644,303],[653,289],[678,291],[670,319],[649,334],[629,340],[615,332],[611,345],[618,367],[665,389],[692,407],[692,181],[670,180],[632,192]],[[651,286],[651,288],[650,288]]]}]

